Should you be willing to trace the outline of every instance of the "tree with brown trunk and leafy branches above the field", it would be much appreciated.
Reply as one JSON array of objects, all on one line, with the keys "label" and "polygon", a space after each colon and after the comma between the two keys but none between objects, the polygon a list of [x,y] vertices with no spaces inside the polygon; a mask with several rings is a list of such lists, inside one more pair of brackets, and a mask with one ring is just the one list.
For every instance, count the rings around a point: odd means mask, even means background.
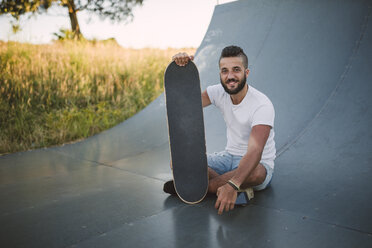
[{"label": "tree with brown trunk and leafy branches above the field", "polygon": [[53,3],[68,10],[74,38],[80,39],[82,34],[77,12],[86,10],[112,21],[131,21],[133,8],[142,5],[143,0],[0,0],[0,15],[10,14],[19,20],[26,13],[46,12]]}]

